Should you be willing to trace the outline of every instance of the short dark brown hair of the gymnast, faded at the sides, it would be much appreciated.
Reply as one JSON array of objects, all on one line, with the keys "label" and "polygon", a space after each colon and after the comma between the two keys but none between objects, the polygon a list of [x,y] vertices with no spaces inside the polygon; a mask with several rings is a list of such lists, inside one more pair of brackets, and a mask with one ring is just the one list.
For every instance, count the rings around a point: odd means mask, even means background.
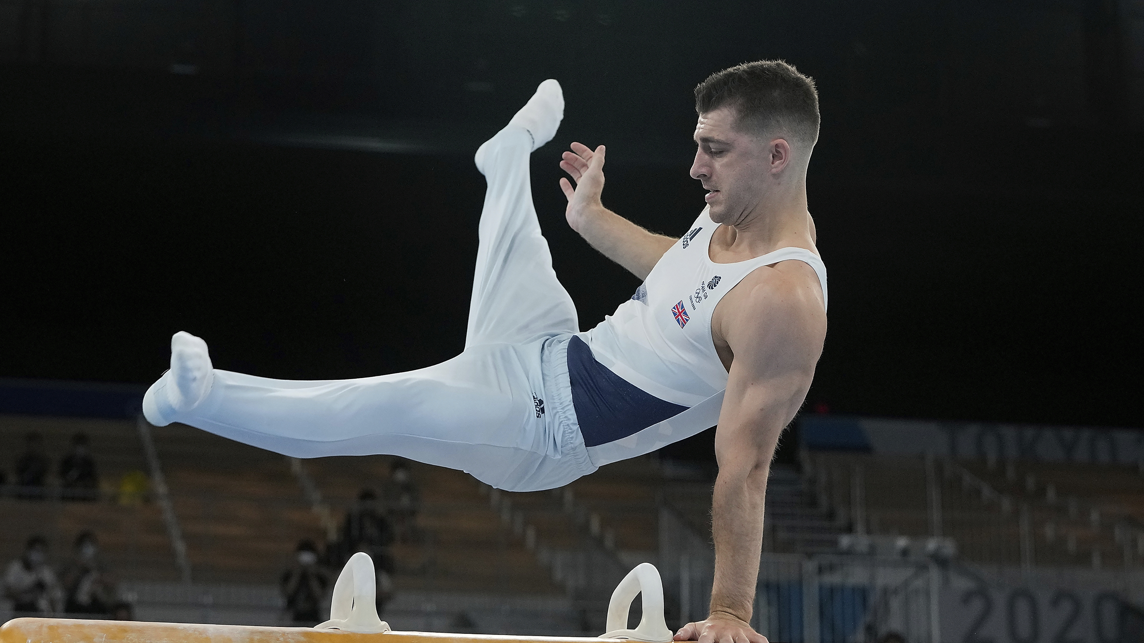
[{"label": "short dark brown hair of the gymnast, faded at the sides", "polygon": [[818,141],[815,79],[784,61],[755,61],[715,72],[696,86],[696,112],[732,108],[736,125],[752,133],[789,132],[811,145]]}]

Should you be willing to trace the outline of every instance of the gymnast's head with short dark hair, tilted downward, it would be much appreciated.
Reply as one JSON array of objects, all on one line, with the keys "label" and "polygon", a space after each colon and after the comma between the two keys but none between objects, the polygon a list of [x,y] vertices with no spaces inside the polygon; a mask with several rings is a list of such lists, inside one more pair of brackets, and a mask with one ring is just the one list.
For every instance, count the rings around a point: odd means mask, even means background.
[{"label": "gymnast's head with short dark hair, tilted downward", "polygon": [[696,112],[691,177],[709,191],[712,221],[737,225],[805,191],[818,141],[813,79],[782,61],[742,63],[696,87]]}]

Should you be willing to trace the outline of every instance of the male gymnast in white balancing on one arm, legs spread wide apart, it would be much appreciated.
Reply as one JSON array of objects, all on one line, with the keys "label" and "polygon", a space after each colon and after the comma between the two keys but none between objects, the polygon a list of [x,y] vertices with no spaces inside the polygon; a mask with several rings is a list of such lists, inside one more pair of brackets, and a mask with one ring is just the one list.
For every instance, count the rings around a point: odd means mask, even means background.
[{"label": "male gymnast in white balancing on one arm, legs spread wide apart", "polygon": [[213,368],[206,343],[180,332],[146,419],[295,458],[397,454],[510,491],[562,486],[717,426],[710,612],[675,638],[766,643],[748,625],[766,477],[826,334],[807,209],[818,95],[793,66],[760,61],[707,78],[696,111],[691,176],[707,207],[678,239],[601,204],[603,145],[563,154],[569,225],[644,279],[595,328],[580,332],[532,204],[529,157],[564,112],[546,80],[476,153],[487,191],[461,355],[375,378],[271,380]]}]

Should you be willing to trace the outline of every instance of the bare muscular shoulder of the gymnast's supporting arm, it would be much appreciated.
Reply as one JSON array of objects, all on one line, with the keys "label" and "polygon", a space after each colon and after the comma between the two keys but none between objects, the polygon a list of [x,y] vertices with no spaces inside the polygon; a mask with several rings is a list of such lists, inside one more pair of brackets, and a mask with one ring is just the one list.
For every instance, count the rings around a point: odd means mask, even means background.
[{"label": "bare muscular shoulder of the gymnast's supporting arm", "polygon": [[818,362],[826,310],[818,277],[805,263],[786,261],[754,270],[728,293],[721,308],[717,332],[736,362],[811,368]]}]

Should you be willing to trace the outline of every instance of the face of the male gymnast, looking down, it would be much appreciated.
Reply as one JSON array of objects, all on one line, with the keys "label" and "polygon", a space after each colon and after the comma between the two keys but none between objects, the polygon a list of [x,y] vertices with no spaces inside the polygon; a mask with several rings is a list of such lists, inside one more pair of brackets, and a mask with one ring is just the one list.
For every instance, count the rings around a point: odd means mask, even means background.
[{"label": "face of the male gymnast, looking down", "polygon": [[708,215],[715,223],[742,224],[766,199],[773,183],[769,180],[774,174],[772,148],[778,143],[789,158],[789,146],[781,138],[769,141],[736,127],[732,108],[699,114],[694,140],[698,149],[691,177],[708,191]]}]

